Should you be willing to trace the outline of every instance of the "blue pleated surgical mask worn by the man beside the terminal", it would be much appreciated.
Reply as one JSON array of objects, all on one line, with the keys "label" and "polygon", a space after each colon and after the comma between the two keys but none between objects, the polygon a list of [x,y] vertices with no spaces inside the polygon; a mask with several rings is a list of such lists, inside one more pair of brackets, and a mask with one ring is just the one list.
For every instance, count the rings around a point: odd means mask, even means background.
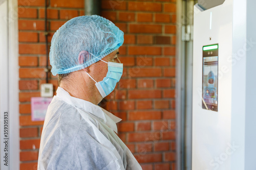
[{"label": "blue pleated surgical mask worn by the man beside the terminal", "polygon": [[[103,60],[101,60],[103,61]],[[103,61],[105,62],[105,61]],[[95,85],[99,90],[102,98],[109,95],[116,87],[117,82],[121,79],[123,74],[123,64],[122,63],[114,63],[114,62],[105,62],[108,64],[108,73],[106,77],[100,82],[96,82],[87,72],[88,76],[95,81]]]}]

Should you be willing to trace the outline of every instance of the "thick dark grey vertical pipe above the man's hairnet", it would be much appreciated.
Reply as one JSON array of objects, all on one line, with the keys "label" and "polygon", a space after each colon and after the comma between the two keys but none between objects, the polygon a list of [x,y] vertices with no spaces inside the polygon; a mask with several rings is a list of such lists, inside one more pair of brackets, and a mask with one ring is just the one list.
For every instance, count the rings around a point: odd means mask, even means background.
[{"label": "thick dark grey vertical pipe above the man's hairnet", "polygon": [[100,15],[100,0],[84,0],[84,15]]}]

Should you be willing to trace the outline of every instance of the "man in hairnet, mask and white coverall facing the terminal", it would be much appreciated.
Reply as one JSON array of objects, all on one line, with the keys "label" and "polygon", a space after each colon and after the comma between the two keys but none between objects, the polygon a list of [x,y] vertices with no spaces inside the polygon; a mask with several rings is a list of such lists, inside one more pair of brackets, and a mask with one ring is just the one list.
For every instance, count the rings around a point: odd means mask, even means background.
[{"label": "man in hairnet, mask and white coverall facing the terminal", "polygon": [[61,26],[50,49],[59,87],[42,130],[38,169],[142,169],[116,135],[121,119],[97,106],[122,75],[123,32],[111,21],[80,16]]}]

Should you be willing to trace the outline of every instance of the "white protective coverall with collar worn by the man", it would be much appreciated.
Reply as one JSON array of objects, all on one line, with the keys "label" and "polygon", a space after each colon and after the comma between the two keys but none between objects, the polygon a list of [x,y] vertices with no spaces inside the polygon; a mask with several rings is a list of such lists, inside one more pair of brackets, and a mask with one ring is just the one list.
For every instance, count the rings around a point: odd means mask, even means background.
[{"label": "white protective coverall with collar worn by the man", "polygon": [[115,133],[120,120],[58,87],[46,113],[37,169],[142,169]]}]

